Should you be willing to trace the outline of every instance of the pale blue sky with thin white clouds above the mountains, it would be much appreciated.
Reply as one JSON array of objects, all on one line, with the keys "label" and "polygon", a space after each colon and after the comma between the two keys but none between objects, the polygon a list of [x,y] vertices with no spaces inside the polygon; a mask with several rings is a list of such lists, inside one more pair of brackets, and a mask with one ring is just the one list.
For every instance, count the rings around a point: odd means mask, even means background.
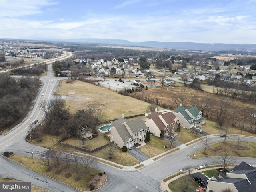
[{"label": "pale blue sky with thin white clouds above the mountains", "polygon": [[256,0],[0,0],[0,38],[256,44]]}]

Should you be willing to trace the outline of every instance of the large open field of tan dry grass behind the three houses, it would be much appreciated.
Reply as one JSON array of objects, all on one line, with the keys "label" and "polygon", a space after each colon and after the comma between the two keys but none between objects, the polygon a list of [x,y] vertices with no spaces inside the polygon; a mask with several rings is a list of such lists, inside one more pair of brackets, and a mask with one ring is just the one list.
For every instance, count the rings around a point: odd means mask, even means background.
[{"label": "large open field of tan dry grass behind the three houses", "polygon": [[62,81],[57,95],[66,96],[66,107],[74,114],[78,109],[84,109],[89,102],[99,106],[104,120],[125,117],[149,112],[147,102],[134,99],[118,92],[86,82],[75,81],[72,84]]}]

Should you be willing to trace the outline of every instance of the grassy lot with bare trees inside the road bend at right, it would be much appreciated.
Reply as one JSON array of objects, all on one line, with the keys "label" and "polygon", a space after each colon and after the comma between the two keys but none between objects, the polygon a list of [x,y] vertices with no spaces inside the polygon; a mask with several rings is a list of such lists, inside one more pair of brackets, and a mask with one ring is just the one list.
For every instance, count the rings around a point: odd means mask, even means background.
[{"label": "grassy lot with bare trees inside the road bend at right", "polygon": [[212,148],[223,148],[228,151],[228,156],[236,156],[236,157],[253,157],[256,158],[256,143],[254,142],[245,142],[242,141],[239,152],[237,154],[237,141],[227,141],[226,142],[218,142],[206,148],[207,155],[202,154],[203,150],[200,150],[195,153],[196,158],[201,157],[214,157],[220,156],[220,153],[214,153],[210,151]]}]

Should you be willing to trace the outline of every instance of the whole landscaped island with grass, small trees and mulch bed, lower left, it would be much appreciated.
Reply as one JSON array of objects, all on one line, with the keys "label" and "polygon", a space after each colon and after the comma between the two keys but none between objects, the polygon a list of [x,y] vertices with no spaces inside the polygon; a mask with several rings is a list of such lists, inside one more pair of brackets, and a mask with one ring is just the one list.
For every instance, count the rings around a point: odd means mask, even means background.
[{"label": "whole landscaped island with grass, small trees and mulch bed, lower left", "polygon": [[[82,191],[92,191],[102,187],[107,180],[107,176],[105,173],[97,170],[95,168],[88,168],[85,170],[82,165],[76,166],[75,164],[71,164],[70,166],[70,174],[67,174],[62,164],[63,170],[57,171],[56,168],[48,169],[43,163],[41,159],[18,155],[18,154],[10,154],[6,155],[7,158],[10,158],[12,161],[30,168],[40,174],[44,174],[50,178],[63,182],[73,188]],[[79,178],[79,179],[77,179]]]}]

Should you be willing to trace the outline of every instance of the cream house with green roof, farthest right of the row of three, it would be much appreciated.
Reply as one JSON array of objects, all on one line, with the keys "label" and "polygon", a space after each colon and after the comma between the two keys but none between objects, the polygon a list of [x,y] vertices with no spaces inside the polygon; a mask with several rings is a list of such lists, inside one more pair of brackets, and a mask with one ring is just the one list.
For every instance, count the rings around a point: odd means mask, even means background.
[{"label": "cream house with green roof, farthest right of the row of three", "polygon": [[180,125],[187,129],[205,124],[206,118],[202,117],[203,113],[196,107],[187,109],[180,104],[180,106],[174,110],[174,114],[180,121]]}]

